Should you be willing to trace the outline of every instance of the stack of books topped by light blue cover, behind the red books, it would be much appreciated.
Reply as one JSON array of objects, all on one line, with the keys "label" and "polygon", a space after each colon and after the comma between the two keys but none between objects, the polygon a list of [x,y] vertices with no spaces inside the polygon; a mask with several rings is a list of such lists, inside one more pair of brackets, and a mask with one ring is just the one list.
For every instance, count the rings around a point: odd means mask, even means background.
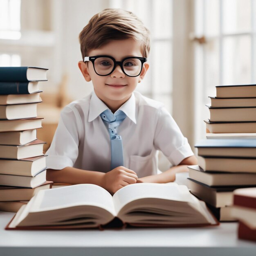
[{"label": "stack of books topped by light blue cover, behind the red books", "polygon": [[198,165],[189,166],[191,193],[204,200],[220,221],[233,221],[233,191],[256,186],[256,139],[203,139]]}]

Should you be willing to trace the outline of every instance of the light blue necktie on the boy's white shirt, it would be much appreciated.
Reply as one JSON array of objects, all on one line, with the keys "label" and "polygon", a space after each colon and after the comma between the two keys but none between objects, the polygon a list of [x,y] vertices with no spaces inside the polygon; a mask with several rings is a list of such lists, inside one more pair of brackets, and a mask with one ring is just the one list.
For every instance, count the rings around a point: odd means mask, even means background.
[{"label": "light blue necktie on the boy's white shirt", "polygon": [[110,109],[101,113],[101,118],[108,125],[108,132],[111,140],[111,169],[124,166],[123,144],[120,135],[117,135],[118,126],[126,118],[126,114],[117,110],[115,114]]}]

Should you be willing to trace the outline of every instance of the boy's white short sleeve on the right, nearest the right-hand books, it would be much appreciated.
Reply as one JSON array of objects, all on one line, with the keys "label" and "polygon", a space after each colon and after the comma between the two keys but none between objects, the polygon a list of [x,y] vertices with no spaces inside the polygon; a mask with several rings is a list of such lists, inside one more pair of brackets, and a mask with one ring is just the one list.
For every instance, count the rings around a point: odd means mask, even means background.
[{"label": "boy's white short sleeve on the right, nearest the right-hand books", "polygon": [[154,146],[161,150],[173,165],[178,165],[186,157],[194,155],[187,138],[164,107],[158,109]]}]

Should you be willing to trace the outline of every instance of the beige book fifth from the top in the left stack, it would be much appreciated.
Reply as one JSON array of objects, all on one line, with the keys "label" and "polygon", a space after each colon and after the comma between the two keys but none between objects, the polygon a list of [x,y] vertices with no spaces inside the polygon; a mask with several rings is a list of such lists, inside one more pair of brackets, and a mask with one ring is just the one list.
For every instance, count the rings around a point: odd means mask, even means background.
[{"label": "beige book fifth from the top in the left stack", "polygon": [[0,132],[12,132],[42,128],[41,117],[17,119],[17,120],[0,120]]}]

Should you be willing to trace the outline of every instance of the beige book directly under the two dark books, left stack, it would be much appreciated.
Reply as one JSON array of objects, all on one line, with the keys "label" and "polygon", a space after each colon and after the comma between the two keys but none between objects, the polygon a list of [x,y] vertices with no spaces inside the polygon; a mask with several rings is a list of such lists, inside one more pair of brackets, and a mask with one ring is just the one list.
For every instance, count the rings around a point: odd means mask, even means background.
[{"label": "beige book directly under the two dark books, left stack", "polygon": [[40,102],[40,92],[32,94],[8,94],[0,95],[0,105],[9,105],[9,104],[22,104],[22,103],[33,103]]}]

